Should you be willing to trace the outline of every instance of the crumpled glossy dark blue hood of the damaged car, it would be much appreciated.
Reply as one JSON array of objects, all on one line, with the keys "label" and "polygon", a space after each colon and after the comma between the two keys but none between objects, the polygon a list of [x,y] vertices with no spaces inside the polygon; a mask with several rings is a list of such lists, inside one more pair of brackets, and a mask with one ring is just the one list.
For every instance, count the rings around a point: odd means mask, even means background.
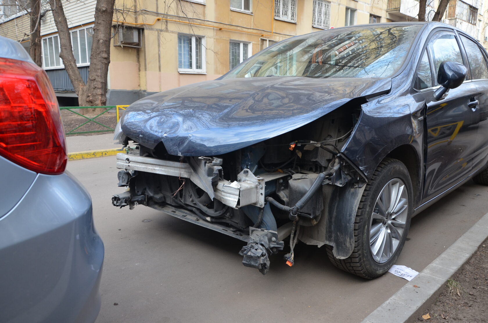
[{"label": "crumpled glossy dark blue hood of the damaged car", "polygon": [[260,77],[204,81],[131,104],[122,132],[177,156],[244,148],[314,121],[348,101],[385,93],[391,79]]}]

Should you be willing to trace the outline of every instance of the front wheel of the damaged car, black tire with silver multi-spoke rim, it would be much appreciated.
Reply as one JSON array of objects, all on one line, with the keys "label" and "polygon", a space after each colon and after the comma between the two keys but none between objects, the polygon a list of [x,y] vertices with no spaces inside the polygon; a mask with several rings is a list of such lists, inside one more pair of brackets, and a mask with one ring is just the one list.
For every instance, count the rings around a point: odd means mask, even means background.
[{"label": "front wheel of the damaged car, black tire with silver multi-spoke rim", "polygon": [[[394,195],[395,189],[400,194],[395,199],[390,198],[390,206],[385,211],[382,203],[387,202],[388,194]],[[398,259],[407,239],[413,212],[412,196],[407,167],[396,159],[383,160],[367,182],[359,203],[354,220],[352,254],[346,259],[337,259],[332,253],[332,247],[326,246],[330,261],[342,270],[367,279],[386,273]],[[396,201],[394,205],[391,200]],[[385,213],[386,217],[382,217],[381,213]]]}]

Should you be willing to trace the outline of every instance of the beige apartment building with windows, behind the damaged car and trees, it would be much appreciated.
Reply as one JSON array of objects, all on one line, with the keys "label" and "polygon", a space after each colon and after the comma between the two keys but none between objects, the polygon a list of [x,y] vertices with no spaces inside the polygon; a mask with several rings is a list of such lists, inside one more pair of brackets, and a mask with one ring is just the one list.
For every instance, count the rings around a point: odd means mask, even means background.
[{"label": "beige apartment building with windows, behind the damaged car and trees", "polygon": [[[0,36],[28,47],[25,0],[3,1],[18,7],[0,9]],[[437,2],[427,0],[430,19]],[[487,47],[485,2],[451,0],[443,21]],[[63,3],[73,52],[85,80],[95,3]],[[216,79],[249,56],[292,36],[347,25],[414,21],[418,8],[417,0],[116,0],[107,105],[129,104],[156,92]],[[50,12],[41,20],[41,37],[43,68],[60,103],[77,105],[58,56],[59,38]]]}]

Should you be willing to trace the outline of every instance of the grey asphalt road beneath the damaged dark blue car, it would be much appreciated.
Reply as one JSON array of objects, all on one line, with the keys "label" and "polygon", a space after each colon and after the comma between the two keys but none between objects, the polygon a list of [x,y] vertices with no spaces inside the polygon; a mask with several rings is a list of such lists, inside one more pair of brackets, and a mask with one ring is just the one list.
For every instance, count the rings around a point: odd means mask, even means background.
[{"label": "grey asphalt road beneath the damaged dark blue car", "polygon": [[[145,206],[112,206],[123,191],[115,156],[67,168],[90,192],[105,243],[97,323],[360,322],[408,283],[352,276],[303,243],[293,267],[275,256],[263,276],[242,265],[238,240]],[[424,269],[487,213],[487,198],[488,187],[469,182],[413,218],[397,264]]]}]

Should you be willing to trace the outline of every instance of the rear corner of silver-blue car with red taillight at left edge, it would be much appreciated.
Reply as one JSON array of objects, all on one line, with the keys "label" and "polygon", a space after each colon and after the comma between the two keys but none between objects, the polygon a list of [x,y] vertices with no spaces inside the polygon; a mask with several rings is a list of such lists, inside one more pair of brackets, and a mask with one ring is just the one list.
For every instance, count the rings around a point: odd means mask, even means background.
[{"label": "rear corner of silver-blue car with red taillight at left edge", "polygon": [[45,72],[0,37],[0,322],[93,323],[103,242]]}]

